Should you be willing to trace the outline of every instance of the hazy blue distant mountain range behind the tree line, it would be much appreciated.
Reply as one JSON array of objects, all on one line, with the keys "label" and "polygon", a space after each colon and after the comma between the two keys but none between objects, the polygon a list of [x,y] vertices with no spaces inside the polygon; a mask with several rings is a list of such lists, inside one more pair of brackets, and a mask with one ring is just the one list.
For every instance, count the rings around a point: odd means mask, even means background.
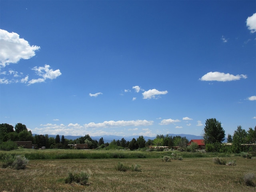
[{"label": "hazy blue distant mountain range behind the tree line", "polygon": [[[38,135],[38,134],[33,134],[34,135]],[[49,137],[53,137],[55,138],[56,135],[48,135]],[[100,138],[103,138],[104,142],[108,142],[110,143],[112,140],[121,140],[122,138],[124,138],[126,141],[131,141],[133,138],[137,139],[140,135],[137,136],[116,136],[116,135],[102,135],[102,136],[90,136],[93,140],[97,140],[99,141]],[[166,136],[166,135],[165,135]],[[181,137],[186,137],[189,141],[192,139],[203,139],[202,136],[196,136],[196,135],[189,135],[189,134],[168,134],[168,136],[181,136]],[[60,135],[60,138],[62,137],[62,135]],[[68,140],[75,140],[77,138],[80,137],[84,137],[84,136],[65,136],[64,138],[68,139]],[[147,141],[148,139],[154,140],[156,137],[147,137],[147,136],[143,136],[144,139]]]}]

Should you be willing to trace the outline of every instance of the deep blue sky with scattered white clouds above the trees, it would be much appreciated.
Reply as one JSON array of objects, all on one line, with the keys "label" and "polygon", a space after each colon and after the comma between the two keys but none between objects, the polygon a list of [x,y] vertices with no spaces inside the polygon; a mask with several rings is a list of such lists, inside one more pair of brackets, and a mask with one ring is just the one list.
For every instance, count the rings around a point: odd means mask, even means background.
[{"label": "deep blue sky with scattered white clouds above the trees", "polygon": [[0,123],[202,135],[256,126],[255,1],[0,1]]}]

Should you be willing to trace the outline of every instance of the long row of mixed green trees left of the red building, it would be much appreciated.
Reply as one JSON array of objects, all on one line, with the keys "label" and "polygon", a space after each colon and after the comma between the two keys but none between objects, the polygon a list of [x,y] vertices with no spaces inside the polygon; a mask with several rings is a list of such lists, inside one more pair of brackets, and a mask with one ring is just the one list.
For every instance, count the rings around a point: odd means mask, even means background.
[{"label": "long row of mixed green trees left of the red building", "polygon": [[0,144],[7,141],[32,141],[33,144],[38,145],[38,148],[42,148],[42,146],[46,148],[70,148],[70,144],[88,144],[89,149],[129,148],[130,150],[151,145],[186,148],[188,144],[186,137],[168,135],[157,135],[154,140],[148,139],[148,141],[143,136],[139,136],[137,139],[133,138],[131,141],[126,141],[122,138],[121,140],[112,140],[110,143],[105,143],[103,138],[100,138],[99,141],[93,140],[89,134],[75,140],[68,140],[63,135],[56,135],[55,138],[49,137],[48,134],[32,136],[32,132],[28,131],[26,125],[21,123],[16,124],[15,127],[10,124],[0,124]]}]

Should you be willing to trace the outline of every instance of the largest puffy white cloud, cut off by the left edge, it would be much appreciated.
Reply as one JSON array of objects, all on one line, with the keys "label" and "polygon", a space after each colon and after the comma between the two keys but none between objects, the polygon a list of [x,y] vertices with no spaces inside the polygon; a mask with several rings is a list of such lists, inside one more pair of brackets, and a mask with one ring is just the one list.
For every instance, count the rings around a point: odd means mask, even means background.
[{"label": "largest puffy white cloud, cut off by the left edge", "polygon": [[28,41],[20,38],[17,33],[9,33],[0,29],[0,66],[17,63],[21,59],[30,59],[40,46],[30,46]]}]

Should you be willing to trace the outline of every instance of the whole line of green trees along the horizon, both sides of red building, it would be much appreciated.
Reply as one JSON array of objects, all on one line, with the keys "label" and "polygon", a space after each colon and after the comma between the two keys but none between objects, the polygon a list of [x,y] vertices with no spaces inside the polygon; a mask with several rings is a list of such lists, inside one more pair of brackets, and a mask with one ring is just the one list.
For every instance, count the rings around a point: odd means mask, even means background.
[{"label": "whole line of green trees along the horizon, both sides of red building", "polygon": [[[238,126],[234,131],[233,136],[228,134],[228,143],[232,145],[223,145],[222,142],[225,139],[225,131],[222,128],[221,122],[215,118],[207,119],[204,127],[204,143],[207,152],[232,152],[240,153],[250,152],[255,149],[255,146],[242,145],[242,144],[255,144],[256,143],[256,126],[254,129],[249,128],[248,131],[242,129],[242,126]],[[64,135],[56,135],[56,137],[49,137],[45,135],[32,136],[32,132],[28,131],[26,125],[17,123],[14,127],[10,124],[0,124],[0,149],[15,148],[14,141],[32,141],[38,148],[45,146],[46,148],[72,148],[72,144],[88,144],[89,149],[106,148],[106,149],[124,149],[136,150],[138,148],[147,148],[149,146],[173,146],[180,147],[180,150],[194,150],[198,146],[191,145],[187,147],[188,140],[186,137],[181,136],[169,136],[156,135],[156,138],[147,141],[143,136],[139,136],[137,139],[133,138],[131,141],[127,141],[124,138],[121,140],[112,140],[110,143],[104,142],[103,138],[99,140],[93,140],[89,134],[77,138],[75,140],[68,140]]]}]

